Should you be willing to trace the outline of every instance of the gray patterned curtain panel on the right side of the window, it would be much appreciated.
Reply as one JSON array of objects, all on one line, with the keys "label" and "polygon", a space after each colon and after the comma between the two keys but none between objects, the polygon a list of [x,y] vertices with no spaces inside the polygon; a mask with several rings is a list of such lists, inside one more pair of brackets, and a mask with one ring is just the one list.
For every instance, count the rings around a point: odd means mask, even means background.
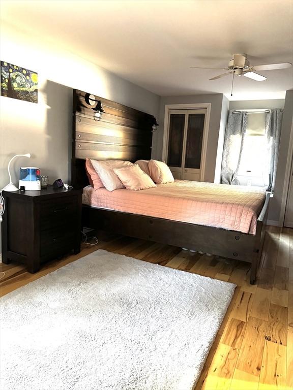
[{"label": "gray patterned curtain panel on the right side of the window", "polygon": [[276,181],[276,170],[279,156],[279,145],[283,110],[274,108],[265,113],[265,131],[268,140],[268,172],[269,191],[274,191]]}]

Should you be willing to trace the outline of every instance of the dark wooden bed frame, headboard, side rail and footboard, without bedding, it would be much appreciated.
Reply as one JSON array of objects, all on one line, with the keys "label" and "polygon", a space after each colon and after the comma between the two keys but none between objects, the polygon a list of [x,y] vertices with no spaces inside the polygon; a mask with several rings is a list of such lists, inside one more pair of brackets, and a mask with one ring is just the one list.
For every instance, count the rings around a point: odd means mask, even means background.
[{"label": "dark wooden bed frame, headboard, side rail and footboard, without bedding", "polygon": [[[89,184],[84,159],[151,158],[152,115],[101,100],[105,114],[96,122],[85,103],[85,92],[73,91],[72,185]],[[111,233],[170,244],[251,263],[250,283],[254,284],[265,238],[270,193],[259,213],[256,234],[244,234],[211,226],[173,221],[119,211],[82,206],[82,225]]]}]

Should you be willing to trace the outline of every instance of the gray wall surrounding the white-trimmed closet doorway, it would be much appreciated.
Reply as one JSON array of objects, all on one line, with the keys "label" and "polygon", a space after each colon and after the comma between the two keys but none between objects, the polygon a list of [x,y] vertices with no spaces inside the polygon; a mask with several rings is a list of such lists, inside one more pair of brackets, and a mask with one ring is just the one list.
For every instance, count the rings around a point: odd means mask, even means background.
[{"label": "gray wall surrounding the white-trimmed closet doorway", "polygon": [[206,172],[204,181],[214,182],[215,167],[217,158],[219,129],[221,123],[223,94],[191,95],[191,96],[162,96],[160,102],[159,120],[160,126],[153,135],[153,158],[162,159],[163,136],[164,136],[164,115],[167,104],[191,104],[191,103],[211,103],[211,116],[209,137],[207,145]]}]

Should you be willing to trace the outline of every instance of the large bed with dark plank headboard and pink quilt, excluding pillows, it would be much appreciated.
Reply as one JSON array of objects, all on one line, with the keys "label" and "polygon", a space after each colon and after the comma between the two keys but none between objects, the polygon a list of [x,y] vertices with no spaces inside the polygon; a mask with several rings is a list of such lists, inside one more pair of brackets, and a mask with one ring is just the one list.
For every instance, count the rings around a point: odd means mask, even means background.
[{"label": "large bed with dark plank headboard and pink quilt, excluding pillows", "polygon": [[[105,188],[91,190],[85,172],[85,158],[132,162],[150,159],[154,117],[95,96],[96,100],[101,100],[105,111],[102,120],[96,122],[92,107],[85,102],[85,94],[73,91],[72,185],[84,188],[83,226],[249,262],[250,283],[254,284],[270,193],[261,188],[187,181],[141,191],[121,189],[107,194],[109,191]],[[182,197],[183,187],[187,198]],[[199,193],[201,201],[198,197],[194,199],[195,192]],[[135,212],[133,197],[140,198]],[[149,211],[145,198],[150,200]],[[220,202],[216,202],[216,198],[221,199]],[[131,207],[127,208],[123,199],[128,200]],[[185,208],[178,205],[180,199],[183,199]],[[154,205],[162,205],[161,202],[169,207],[156,207],[157,213],[154,213]],[[214,213],[202,213],[207,208],[213,209]],[[203,220],[199,220],[200,209]],[[175,216],[172,214],[174,210]],[[239,214],[243,218],[238,218]]]}]

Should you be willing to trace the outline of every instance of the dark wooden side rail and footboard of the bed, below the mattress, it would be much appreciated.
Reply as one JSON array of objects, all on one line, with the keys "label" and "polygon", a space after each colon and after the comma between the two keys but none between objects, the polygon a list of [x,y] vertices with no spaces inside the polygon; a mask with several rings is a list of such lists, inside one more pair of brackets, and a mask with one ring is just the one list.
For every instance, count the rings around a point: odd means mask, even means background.
[{"label": "dark wooden side rail and footboard of the bed, below the mattress", "polygon": [[90,206],[82,208],[82,224],[88,228],[251,263],[250,282],[253,284],[265,237],[263,220],[266,217],[269,199],[268,193],[257,220],[255,235]]}]

